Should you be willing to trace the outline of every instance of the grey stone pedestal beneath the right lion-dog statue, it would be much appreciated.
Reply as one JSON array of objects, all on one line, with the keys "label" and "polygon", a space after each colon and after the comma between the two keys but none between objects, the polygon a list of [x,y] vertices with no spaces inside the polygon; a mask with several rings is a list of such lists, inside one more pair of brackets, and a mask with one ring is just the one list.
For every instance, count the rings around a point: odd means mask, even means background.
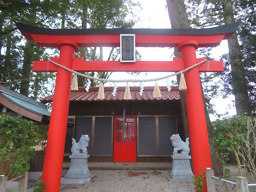
[{"label": "grey stone pedestal beneath the right lion-dog statue", "polygon": [[170,178],[173,180],[191,180],[193,173],[190,167],[189,159],[191,156],[186,154],[174,154],[173,158],[173,169],[170,173]]}]

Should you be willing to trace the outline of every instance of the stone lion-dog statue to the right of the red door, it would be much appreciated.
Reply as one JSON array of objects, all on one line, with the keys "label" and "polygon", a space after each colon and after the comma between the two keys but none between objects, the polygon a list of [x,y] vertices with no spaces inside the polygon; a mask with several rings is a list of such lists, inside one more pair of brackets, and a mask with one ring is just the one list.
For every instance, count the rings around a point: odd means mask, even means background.
[{"label": "stone lion-dog statue to the right of the red door", "polygon": [[181,153],[189,153],[189,138],[186,138],[186,142],[182,141],[179,134],[172,135],[170,141],[174,146],[174,154],[178,154],[178,151],[181,150]]}]

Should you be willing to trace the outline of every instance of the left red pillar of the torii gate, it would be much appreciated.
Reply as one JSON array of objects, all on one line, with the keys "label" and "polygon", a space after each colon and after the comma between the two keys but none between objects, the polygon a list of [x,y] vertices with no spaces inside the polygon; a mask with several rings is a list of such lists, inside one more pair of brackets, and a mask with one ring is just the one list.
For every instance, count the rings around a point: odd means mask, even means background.
[{"label": "left red pillar of the torii gate", "polygon": [[[60,48],[60,64],[65,67],[72,68],[72,61],[77,46],[72,42],[60,42],[58,46]],[[60,189],[69,112],[71,78],[71,72],[58,68],[53,96],[52,114],[47,138],[44,168],[42,170],[42,181],[47,184],[45,189],[48,192],[56,192]]]}]

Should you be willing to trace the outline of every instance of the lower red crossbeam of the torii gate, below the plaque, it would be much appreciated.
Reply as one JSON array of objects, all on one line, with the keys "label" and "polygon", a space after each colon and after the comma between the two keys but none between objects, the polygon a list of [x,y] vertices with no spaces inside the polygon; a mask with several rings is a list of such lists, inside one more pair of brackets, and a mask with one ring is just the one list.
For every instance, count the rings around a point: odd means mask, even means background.
[{"label": "lower red crossbeam of the torii gate, below the plaque", "polygon": [[[205,58],[199,58],[198,62]],[[58,58],[51,57],[58,62]],[[58,62],[59,63],[59,62]],[[61,63],[60,63],[61,64]],[[72,70],[79,72],[112,71],[112,72],[178,72],[184,69],[183,60],[174,57],[173,61],[84,61],[82,57],[74,58]],[[33,71],[54,72],[58,67],[50,61],[34,61]],[[198,66],[200,72],[223,71],[222,61],[206,61]]]}]

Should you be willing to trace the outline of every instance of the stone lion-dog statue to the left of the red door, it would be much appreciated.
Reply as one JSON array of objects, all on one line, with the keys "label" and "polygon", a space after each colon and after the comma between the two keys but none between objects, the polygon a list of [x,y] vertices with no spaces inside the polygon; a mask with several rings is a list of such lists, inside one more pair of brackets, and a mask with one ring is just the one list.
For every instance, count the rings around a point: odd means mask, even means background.
[{"label": "stone lion-dog statue to the left of the red door", "polygon": [[88,135],[82,135],[78,142],[74,138],[72,138],[72,154],[80,154],[82,151],[83,155],[87,155],[87,147],[89,145],[90,138]]}]

